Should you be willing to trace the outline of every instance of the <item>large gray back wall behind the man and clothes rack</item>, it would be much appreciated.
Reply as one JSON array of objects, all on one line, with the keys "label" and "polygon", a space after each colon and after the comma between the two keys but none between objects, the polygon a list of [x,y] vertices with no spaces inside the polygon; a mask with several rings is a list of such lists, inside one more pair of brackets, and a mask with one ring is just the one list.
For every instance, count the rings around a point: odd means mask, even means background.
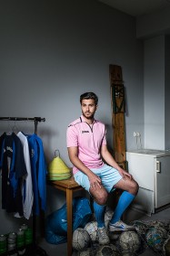
[{"label": "large gray back wall behind the man and clothes rack", "polygon": [[[144,138],[143,42],[135,37],[135,18],[93,0],[0,2],[0,116],[45,117],[38,134],[47,163],[57,148],[70,165],[66,127],[80,116],[85,91],[99,96],[96,118],[105,122],[112,148],[109,64],[123,69],[126,147],[135,148],[133,132]],[[13,125],[1,122],[1,132]],[[33,124],[16,125],[34,131]],[[64,201],[64,194],[48,188],[46,214]],[[11,228],[5,223],[5,229]]]}]

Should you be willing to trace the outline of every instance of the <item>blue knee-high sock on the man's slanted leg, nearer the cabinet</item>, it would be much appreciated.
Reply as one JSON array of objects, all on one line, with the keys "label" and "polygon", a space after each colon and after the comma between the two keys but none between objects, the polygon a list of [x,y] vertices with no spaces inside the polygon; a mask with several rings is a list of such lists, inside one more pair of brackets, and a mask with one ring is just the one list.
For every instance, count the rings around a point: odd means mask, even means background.
[{"label": "blue knee-high sock on the man's slanted leg, nearer the cabinet", "polygon": [[130,194],[127,191],[124,191],[119,198],[118,204],[115,208],[114,215],[110,221],[111,224],[114,224],[116,221],[120,220],[123,213],[125,212],[125,209],[132,203],[135,196]]}]

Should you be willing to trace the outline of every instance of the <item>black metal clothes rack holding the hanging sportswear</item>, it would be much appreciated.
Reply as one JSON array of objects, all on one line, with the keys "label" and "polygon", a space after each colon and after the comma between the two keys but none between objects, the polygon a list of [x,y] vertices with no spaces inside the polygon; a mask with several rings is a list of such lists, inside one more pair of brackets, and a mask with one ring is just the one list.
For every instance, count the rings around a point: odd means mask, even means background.
[{"label": "black metal clothes rack holding the hanging sportswear", "polygon": [[[31,121],[31,122],[34,122],[35,123],[35,134],[37,134],[38,123],[45,122],[45,118],[41,118],[41,117],[31,117],[31,118],[30,117],[0,117],[0,121]],[[35,217],[35,215],[33,215],[33,250],[34,250],[33,255],[47,256],[45,250],[36,245],[35,230],[36,230],[36,217]]]}]

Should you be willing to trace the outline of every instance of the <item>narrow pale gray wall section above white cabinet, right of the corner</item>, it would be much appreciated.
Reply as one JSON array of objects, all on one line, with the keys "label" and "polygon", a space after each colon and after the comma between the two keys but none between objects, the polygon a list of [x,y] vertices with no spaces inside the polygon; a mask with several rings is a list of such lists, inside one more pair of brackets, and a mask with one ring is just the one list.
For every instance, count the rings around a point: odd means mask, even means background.
[{"label": "narrow pale gray wall section above white cabinet, right of the corner", "polygon": [[165,149],[165,37],[145,40],[145,148]]}]

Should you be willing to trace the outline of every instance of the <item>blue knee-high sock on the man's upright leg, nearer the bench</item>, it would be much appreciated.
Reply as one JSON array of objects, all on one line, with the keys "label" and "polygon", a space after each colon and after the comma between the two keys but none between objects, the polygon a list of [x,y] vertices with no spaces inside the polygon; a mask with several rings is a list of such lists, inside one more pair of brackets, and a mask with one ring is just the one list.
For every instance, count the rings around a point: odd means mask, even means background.
[{"label": "blue knee-high sock on the man's upright leg, nearer the bench", "polygon": [[105,208],[106,206],[100,206],[94,201],[95,219],[98,228],[105,227]]}]

